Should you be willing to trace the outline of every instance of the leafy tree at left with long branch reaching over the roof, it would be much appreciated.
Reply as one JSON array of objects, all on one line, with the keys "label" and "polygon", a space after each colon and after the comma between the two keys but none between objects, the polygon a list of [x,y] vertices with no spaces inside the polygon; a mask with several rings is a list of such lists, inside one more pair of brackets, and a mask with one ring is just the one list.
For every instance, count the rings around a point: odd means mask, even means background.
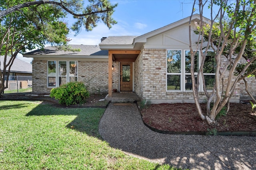
[{"label": "leafy tree at left with long branch reaching over the roof", "polygon": [[[86,4],[83,0],[0,0],[0,53],[4,57],[0,72],[0,94],[8,88],[10,68],[18,53],[36,47],[43,48],[46,43],[63,50],[79,51],[67,45],[70,29],[76,35],[82,27],[91,31],[100,20],[111,28],[116,24],[112,18],[116,6],[108,0],[88,0]],[[71,27],[64,22],[67,14],[76,18]],[[9,61],[7,56],[11,57]]]}]

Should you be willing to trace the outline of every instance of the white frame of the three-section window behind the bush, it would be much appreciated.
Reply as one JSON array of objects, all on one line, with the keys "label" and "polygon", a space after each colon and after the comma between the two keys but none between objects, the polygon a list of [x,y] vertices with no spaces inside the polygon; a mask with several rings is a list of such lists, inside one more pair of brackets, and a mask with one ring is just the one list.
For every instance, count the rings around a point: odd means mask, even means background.
[{"label": "white frame of the three-section window behind the bush", "polygon": [[[49,61],[54,61],[56,62],[56,72],[55,72],[55,86],[49,86],[49,82],[48,82],[48,77],[53,77],[53,76],[48,76],[48,62]],[[49,60],[47,61],[47,88],[56,88],[56,87],[59,87],[59,77],[66,77],[66,83],[70,82],[70,77],[76,77],[76,80],[78,80],[78,61],[65,61],[66,62],[66,65],[67,65],[67,72],[66,72],[66,76],[60,76],[59,75],[59,62],[60,61],[63,61],[63,60]],[[69,64],[70,62],[76,62],[76,69],[77,69],[77,75],[76,76],[70,76],[70,68],[69,68]]]}]

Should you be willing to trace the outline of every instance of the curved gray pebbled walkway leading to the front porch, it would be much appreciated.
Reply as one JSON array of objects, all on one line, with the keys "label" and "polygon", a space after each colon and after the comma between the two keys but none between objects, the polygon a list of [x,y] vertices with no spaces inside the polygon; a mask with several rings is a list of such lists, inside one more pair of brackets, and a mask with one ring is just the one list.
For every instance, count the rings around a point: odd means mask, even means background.
[{"label": "curved gray pebbled walkway leading to the front porch", "polygon": [[192,170],[256,170],[256,137],[169,135],[146,127],[136,104],[106,109],[102,138],[127,154]]}]

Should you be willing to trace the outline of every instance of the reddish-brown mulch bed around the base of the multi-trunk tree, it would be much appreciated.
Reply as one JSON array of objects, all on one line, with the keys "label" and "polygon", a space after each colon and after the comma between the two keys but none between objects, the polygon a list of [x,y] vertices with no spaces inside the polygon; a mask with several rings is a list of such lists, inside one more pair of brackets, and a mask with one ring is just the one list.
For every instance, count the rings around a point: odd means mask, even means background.
[{"label": "reddish-brown mulch bed around the base of the multi-trunk tree", "polygon": [[[206,112],[206,104],[201,107]],[[141,114],[144,123],[161,131],[256,131],[256,109],[252,112],[250,104],[231,103],[227,115],[217,119],[216,125],[200,119],[195,104],[189,103],[152,104]]]}]

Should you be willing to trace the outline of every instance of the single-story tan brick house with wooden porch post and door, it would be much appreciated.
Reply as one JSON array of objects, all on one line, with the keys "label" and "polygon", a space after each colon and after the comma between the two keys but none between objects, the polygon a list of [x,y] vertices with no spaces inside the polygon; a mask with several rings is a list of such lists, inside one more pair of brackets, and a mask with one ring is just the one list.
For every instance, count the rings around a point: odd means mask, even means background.
[{"label": "single-story tan brick house with wooden porch post and door", "polygon": [[[198,14],[192,17],[192,23],[199,20]],[[77,80],[89,83],[90,92],[108,92],[109,97],[116,89],[135,92],[152,103],[194,102],[188,24],[189,17],[140,36],[104,37],[99,46],[72,45],[81,49],[79,52],[46,47],[44,51],[26,53],[24,57],[34,57],[33,93],[49,93],[54,87]],[[197,36],[192,36],[192,42],[196,42]],[[204,68],[208,90],[214,86],[213,56],[208,51]],[[199,52],[196,63],[198,68]],[[249,82],[249,90],[255,94],[255,78]],[[199,88],[203,101],[203,87]],[[246,96],[243,82],[238,82],[231,101],[239,102]]]}]

